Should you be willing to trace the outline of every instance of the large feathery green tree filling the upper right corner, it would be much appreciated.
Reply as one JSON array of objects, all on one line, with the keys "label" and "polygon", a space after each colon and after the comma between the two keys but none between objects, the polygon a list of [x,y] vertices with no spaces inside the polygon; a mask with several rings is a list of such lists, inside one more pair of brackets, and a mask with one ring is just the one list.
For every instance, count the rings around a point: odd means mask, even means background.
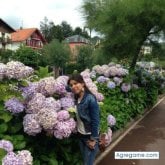
[{"label": "large feathery green tree filling the upper right corner", "polygon": [[108,57],[131,57],[131,69],[143,43],[165,31],[165,0],[84,0],[82,7],[87,24],[103,34]]}]

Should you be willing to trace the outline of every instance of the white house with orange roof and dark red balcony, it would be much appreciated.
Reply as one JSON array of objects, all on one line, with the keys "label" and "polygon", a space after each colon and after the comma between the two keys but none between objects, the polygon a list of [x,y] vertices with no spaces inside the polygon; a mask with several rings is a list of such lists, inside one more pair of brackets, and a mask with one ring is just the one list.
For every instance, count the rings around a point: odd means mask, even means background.
[{"label": "white house with orange roof and dark red balcony", "polygon": [[20,45],[25,45],[33,49],[41,49],[46,44],[45,38],[37,28],[19,29],[11,34],[12,50],[16,50]]}]

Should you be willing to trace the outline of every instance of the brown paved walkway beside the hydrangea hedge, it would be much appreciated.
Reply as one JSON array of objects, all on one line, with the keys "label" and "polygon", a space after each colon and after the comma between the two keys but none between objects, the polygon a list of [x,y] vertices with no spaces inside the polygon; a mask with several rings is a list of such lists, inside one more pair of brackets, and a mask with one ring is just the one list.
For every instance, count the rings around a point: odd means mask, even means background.
[{"label": "brown paved walkway beside the hydrangea hedge", "polygon": [[[112,143],[113,145],[113,143]],[[107,149],[108,150],[108,149]],[[119,151],[159,152],[159,159],[115,159]],[[96,161],[98,162],[98,161]],[[165,98],[138,122],[97,165],[164,165]]]}]

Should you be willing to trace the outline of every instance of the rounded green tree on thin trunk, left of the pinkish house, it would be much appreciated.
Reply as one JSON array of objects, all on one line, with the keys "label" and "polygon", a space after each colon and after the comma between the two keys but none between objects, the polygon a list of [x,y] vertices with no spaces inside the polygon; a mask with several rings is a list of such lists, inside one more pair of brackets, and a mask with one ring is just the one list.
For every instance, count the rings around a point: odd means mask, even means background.
[{"label": "rounded green tree on thin trunk, left of the pinkish house", "polygon": [[53,40],[43,47],[43,54],[46,56],[48,63],[53,67],[55,77],[59,75],[59,70],[62,69],[70,57],[70,48],[67,43],[60,43],[58,40]]}]

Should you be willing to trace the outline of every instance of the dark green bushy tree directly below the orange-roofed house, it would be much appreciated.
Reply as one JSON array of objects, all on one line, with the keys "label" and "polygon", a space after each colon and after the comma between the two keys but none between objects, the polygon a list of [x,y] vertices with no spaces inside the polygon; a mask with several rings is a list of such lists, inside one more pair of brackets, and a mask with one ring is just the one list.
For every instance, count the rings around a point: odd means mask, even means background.
[{"label": "dark green bushy tree directly below the orange-roofed house", "polygon": [[38,67],[40,54],[32,48],[20,46],[13,55],[13,59],[31,67]]}]

